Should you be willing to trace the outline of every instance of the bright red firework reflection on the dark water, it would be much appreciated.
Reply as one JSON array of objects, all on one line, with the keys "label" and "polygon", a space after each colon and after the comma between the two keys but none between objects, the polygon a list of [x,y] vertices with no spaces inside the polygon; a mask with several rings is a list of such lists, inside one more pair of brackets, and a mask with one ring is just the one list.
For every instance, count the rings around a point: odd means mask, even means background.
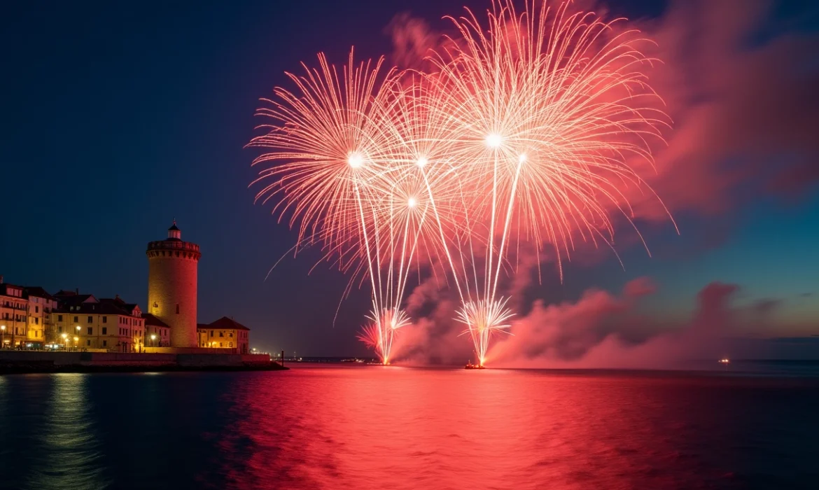
[{"label": "bright red firework reflection on the dark water", "polygon": [[297,367],[226,395],[213,463],[235,488],[694,488],[709,475],[669,437],[684,414],[638,381]]}]

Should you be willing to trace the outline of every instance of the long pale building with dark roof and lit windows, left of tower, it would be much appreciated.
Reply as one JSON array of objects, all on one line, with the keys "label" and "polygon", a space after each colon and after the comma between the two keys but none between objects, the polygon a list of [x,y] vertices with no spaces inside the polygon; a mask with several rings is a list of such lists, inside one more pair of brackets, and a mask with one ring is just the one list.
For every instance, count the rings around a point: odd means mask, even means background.
[{"label": "long pale building with dark roof and lit windows, left of tower", "polygon": [[93,295],[69,295],[65,304],[52,311],[57,343],[66,348],[142,352],[145,320],[139,306],[119,296],[100,299]]}]

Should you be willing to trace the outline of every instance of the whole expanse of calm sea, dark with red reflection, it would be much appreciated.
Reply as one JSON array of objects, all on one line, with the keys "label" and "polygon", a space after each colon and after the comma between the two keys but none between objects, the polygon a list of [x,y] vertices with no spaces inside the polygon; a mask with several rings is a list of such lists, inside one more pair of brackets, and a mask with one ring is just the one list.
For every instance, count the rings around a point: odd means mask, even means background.
[{"label": "whole expanse of calm sea, dark with red reflection", "polygon": [[0,376],[0,488],[817,488],[819,378]]}]

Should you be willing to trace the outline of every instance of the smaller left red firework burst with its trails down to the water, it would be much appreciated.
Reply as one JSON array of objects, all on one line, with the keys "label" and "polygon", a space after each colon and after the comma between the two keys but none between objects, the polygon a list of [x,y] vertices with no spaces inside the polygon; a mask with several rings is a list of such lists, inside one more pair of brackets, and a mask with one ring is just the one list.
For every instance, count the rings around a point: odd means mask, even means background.
[{"label": "smaller left red firework burst with its trails down to the water", "polygon": [[387,364],[396,330],[409,324],[401,301],[429,207],[387,130],[399,76],[382,71],[382,59],[356,66],[352,52],[342,76],[324,55],[318,70],[304,68],[287,74],[297,93],[275,88],[258,111],[274,121],[250,146],[273,151],[254,165],[276,165],[254,181],[265,184],[256,198],[278,198],[273,212],[298,229],[296,253],[318,243],[324,259],[352,272],[348,288],[359,275],[369,279],[373,309],[361,337]]}]

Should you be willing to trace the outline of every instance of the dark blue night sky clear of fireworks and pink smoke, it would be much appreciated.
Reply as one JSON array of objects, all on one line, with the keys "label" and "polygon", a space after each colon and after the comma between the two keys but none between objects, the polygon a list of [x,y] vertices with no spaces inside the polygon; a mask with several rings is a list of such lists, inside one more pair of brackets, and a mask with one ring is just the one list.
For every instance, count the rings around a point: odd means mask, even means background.
[{"label": "dark blue night sky clear of fireworks and pink smoke", "polygon": [[[467,0],[480,10],[485,0]],[[25,4],[24,4],[25,3]],[[167,5],[167,4],[172,5]],[[258,98],[287,84],[284,70],[324,51],[343,62],[391,52],[384,28],[402,11],[433,29],[464,0],[418,2],[18,2],[4,11],[0,274],[51,291],[118,293],[144,305],[146,243],[175,217],[199,243],[199,315],[233,315],[256,347],[305,354],[363,354],[355,330],[368,294],[354,293],[331,322],[346,279],[315,256],[269,267],[292,245],[247,184],[256,155]],[[785,19],[804,2],[778,4]],[[664,2],[610,2],[631,18],[664,15]],[[778,29],[815,32],[812,24]],[[805,70],[815,71],[814,61]],[[812,155],[814,161],[817,155]],[[741,164],[741,161],[740,161]],[[780,165],[771,161],[771,166]],[[811,174],[812,175],[812,174]],[[740,191],[742,185],[739,185]],[[682,210],[681,236],[646,225],[653,258],[623,252],[574,264],[543,297],[571,300],[586,288],[619,290],[648,275],[659,285],[649,310],[686,315],[713,280],[740,284],[740,302],[781,300],[783,324],[819,324],[819,193],[737,198],[708,214]],[[716,238],[715,238],[716,237]],[[546,273],[549,274],[548,272]],[[783,332],[786,333],[786,332]],[[819,332],[814,332],[819,333]],[[773,333],[773,334],[776,334]]]}]

